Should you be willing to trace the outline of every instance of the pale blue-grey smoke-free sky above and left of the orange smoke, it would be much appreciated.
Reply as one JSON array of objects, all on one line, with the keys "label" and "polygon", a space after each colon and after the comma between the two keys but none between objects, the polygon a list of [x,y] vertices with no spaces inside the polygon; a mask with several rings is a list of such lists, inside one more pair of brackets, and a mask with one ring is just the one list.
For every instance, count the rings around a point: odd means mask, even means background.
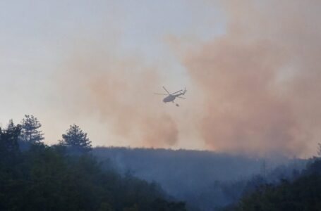
[{"label": "pale blue-grey smoke-free sky above and left of the orange smoke", "polygon": [[3,126],[30,114],[42,123],[47,143],[55,143],[76,123],[94,145],[130,146],[131,141],[111,140],[108,126],[97,118],[69,118],[67,110],[56,106],[63,103],[56,91],[56,72],[68,52],[83,41],[103,42],[119,57],[139,56],[145,63],[162,64],[162,84],[146,94],[162,91],[162,85],[176,91],[188,86],[188,76],[166,40],[213,39],[224,33],[224,17],[219,8],[199,1],[0,1],[0,29]]}]

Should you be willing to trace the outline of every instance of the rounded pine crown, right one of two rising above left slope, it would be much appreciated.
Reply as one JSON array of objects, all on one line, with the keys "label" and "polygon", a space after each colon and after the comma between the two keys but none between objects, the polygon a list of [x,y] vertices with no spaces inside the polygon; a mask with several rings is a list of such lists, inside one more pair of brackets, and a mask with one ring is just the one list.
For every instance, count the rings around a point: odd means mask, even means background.
[{"label": "rounded pine crown, right one of two rising above left slope", "polygon": [[79,152],[91,151],[91,141],[87,138],[87,133],[84,133],[78,125],[71,125],[66,131],[66,134],[62,135],[63,140],[59,143],[63,146],[73,148],[73,150]]}]

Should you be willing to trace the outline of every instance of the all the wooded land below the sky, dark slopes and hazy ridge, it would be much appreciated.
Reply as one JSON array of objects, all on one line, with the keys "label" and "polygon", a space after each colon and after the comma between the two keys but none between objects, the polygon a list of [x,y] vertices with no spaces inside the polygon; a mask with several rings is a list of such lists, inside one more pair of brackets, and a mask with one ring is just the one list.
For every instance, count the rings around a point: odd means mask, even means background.
[{"label": "all the wooded land below the sky, dark slopes and hazy ridge", "polygon": [[92,148],[75,124],[58,144],[47,146],[40,127],[37,118],[26,115],[21,125],[11,121],[0,128],[0,210],[320,208],[321,161],[316,158]]}]

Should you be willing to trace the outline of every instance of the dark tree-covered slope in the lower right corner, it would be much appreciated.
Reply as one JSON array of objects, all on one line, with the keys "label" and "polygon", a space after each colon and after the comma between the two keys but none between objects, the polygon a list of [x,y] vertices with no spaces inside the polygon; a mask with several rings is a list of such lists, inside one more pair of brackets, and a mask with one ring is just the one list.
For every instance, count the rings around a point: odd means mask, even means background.
[{"label": "dark tree-covered slope in the lower right corner", "polygon": [[301,175],[279,184],[262,184],[244,194],[239,203],[226,208],[236,211],[321,210],[321,160],[312,160]]}]

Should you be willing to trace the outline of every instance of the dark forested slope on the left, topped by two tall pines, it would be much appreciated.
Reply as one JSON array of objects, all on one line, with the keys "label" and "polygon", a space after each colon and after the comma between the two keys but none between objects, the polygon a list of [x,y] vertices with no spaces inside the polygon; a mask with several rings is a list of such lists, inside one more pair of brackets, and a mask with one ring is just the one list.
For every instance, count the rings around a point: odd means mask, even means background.
[{"label": "dark forested slope on the left, topped by two tall pines", "polygon": [[186,210],[155,183],[102,170],[79,127],[55,146],[34,129],[0,128],[0,210]]}]

